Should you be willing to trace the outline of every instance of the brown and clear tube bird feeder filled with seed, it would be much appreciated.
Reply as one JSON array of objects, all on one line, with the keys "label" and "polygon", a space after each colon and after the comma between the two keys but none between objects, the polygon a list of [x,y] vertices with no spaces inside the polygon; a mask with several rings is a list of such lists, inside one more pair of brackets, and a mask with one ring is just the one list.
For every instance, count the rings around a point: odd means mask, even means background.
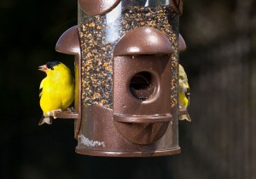
[{"label": "brown and clear tube bird feeder filled with seed", "polygon": [[[79,24],[56,51],[75,55],[76,152],[146,157],[178,146],[178,22],[182,0],[79,0]],[[180,40],[179,40],[180,39]]]}]

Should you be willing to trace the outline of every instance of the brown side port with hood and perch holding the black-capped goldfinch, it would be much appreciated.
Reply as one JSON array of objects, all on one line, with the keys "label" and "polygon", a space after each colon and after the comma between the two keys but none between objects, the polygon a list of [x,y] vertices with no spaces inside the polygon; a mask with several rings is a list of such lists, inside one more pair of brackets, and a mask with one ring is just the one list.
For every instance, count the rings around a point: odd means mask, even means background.
[{"label": "brown side port with hood and perch holding the black-capped goldfinch", "polygon": [[67,55],[75,55],[75,97],[74,97],[74,112],[58,112],[55,113],[55,118],[74,118],[74,137],[77,139],[81,123],[81,52],[79,43],[78,26],[69,28],[61,35],[56,43],[55,50]]}]

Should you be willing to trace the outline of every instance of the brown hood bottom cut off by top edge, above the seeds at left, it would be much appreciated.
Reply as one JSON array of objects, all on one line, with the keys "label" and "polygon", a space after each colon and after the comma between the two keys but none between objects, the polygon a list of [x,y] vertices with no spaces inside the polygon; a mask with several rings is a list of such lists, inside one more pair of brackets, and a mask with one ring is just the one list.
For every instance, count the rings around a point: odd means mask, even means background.
[{"label": "brown hood bottom cut off by top edge, above the seeds at left", "polygon": [[119,3],[120,0],[79,0],[79,4],[84,12],[93,16],[106,14]]}]

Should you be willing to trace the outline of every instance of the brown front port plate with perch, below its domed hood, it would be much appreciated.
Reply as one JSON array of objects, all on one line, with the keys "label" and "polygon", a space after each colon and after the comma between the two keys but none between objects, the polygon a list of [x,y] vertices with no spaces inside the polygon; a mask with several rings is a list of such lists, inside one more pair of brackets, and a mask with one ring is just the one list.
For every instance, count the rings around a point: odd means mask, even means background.
[{"label": "brown front port plate with perch, below its domed hood", "polygon": [[[137,55],[134,59],[131,58],[131,55],[124,55],[114,58],[113,120],[119,133],[129,141],[140,144],[156,141],[166,131],[166,127],[163,126],[167,126],[172,120],[170,113],[171,75],[168,73],[171,69],[169,58],[168,55]],[[141,91],[140,95],[131,94],[131,78],[136,76],[138,72],[148,72],[154,78],[152,79],[153,82],[149,82],[154,91],[148,96],[148,99],[143,98],[147,93],[143,90],[147,89],[138,89]],[[154,136],[150,140],[134,136],[131,133],[131,131],[133,133],[143,131],[146,126],[150,125],[152,130],[149,131],[148,135]],[[147,132],[144,131],[144,133]]]}]

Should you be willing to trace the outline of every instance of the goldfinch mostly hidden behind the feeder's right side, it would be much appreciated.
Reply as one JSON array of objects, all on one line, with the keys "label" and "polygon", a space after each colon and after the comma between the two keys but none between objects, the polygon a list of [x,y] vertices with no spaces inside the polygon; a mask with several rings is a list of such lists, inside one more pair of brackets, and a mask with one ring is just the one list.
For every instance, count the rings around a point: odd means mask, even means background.
[{"label": "goldfinch mostly hidden behind the feeder's right side", "polygon": [[178,98],[179,98],[179,109],[183,111],[182,114],[179,115],[180,120],[188,120],[191,122],[191,118],[189,117],[189,113],[187,111],[187,107],[189,106],[189,83],[187,74],[184,71],[183,66],[178,66]]}]

